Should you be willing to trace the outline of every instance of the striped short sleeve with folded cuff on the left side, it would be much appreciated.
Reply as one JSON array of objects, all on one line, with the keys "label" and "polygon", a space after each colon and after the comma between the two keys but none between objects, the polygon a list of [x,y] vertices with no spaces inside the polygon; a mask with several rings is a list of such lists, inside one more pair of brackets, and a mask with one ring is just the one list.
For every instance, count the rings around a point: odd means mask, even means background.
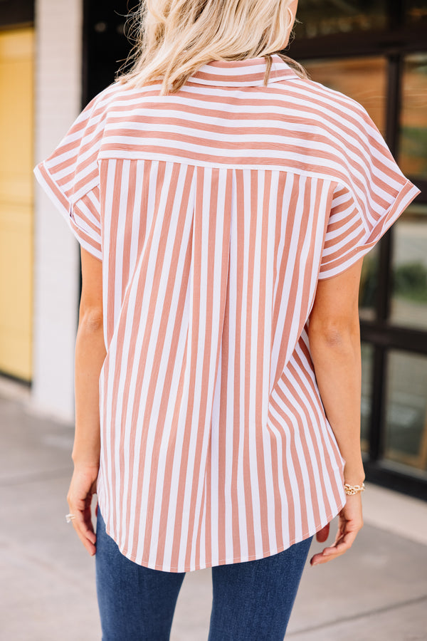
[{"label": "striped short sleeve with folded cuff on the left side", "polygon": [[97,156],[110,87],[95,96],[75,119],[51,155],[34,168],[84,249],[102,260],[100,184]]}]

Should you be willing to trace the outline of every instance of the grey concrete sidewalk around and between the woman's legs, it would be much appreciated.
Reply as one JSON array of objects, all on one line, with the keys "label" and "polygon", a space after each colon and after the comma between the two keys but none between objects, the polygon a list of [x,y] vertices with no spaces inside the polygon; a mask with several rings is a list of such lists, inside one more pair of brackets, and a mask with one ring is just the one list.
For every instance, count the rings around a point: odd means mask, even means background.
[{"label": "grey concrete sidewalk around and between the woman's legs", "polygon": [[[0,386],[0,639],[101,639],[95,558],[65,523],[73,427]],[[427,640],[427,504],[369,484],[352,549],[302,577],[286,638]],[[331,525],[331,542],[336,532]],[[309,558],[325,544],[313,541]],[[207,639],[211,570],[187,573],[172,641]]]}]

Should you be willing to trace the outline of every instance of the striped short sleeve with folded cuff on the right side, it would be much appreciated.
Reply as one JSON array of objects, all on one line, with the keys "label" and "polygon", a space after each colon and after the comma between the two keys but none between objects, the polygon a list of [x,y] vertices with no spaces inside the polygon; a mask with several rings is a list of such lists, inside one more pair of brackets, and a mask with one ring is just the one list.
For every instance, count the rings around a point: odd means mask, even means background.
[{"label": "striped short sleeve with folded cuff on the right side", "polygon": [[360,106],[350,162],[334,189],[318,278],[348,269],[376,245],[420,193],[401,172],[381,133]]}]

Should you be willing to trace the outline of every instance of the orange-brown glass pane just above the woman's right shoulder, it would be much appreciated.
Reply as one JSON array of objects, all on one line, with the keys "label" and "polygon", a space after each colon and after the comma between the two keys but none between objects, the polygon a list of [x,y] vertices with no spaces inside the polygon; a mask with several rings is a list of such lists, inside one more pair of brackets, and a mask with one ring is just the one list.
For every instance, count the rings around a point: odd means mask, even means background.
[{"label": "orange-brown glass pane just above the woman's right shoulder", "polygon": [[304,61],[312,80],[354,98],[385,135],[386,58],[341,58]]}]

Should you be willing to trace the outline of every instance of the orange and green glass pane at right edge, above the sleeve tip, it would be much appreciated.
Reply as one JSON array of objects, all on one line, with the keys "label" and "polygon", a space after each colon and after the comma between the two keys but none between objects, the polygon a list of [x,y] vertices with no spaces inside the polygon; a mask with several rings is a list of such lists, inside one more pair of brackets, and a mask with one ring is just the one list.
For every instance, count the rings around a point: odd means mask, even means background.
[{"label": "orange and green glass pane at right edge, above the sleeve tip", "polygon": [[427,178],[427,53],[407,56],[402,82],[399,165],[404,174]]}]

